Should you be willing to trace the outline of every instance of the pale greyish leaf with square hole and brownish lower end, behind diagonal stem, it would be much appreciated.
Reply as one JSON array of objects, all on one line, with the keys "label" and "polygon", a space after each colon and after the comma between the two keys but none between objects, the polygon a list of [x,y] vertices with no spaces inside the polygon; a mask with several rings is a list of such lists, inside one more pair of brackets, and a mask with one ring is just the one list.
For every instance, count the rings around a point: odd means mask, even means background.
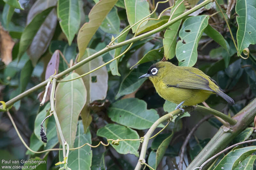
[{"label": "pale greyish leaf with square hole and brownish lower end, behind diagonal stem", "polygon": [[[87,48],[81,60],[89,57],[95,52],[96,50]],[[76,73],[82,75],[102,64],[104,64],[102,57],[101,56],[97,57],[92,61],[84,64],[84,66],[77,68]],[[96,82],[92,81],[92,78],[96,79]],[[107,96],[107,90],[108,90],[107,68],[106,66],[101,67],[95,72],[92,72],[89,75],[82,77],[82,79],[84,81],[84,85],[87,90],[87,99],[86,99],[86,104],[81,112],[81,116],[84,124],[84,129],[87,129],[87,127],[90,125],[92,121],[92,117],[90,115],[90,108],[88,107],[88,104],[92,103],[95,100],[103,100]]]}]

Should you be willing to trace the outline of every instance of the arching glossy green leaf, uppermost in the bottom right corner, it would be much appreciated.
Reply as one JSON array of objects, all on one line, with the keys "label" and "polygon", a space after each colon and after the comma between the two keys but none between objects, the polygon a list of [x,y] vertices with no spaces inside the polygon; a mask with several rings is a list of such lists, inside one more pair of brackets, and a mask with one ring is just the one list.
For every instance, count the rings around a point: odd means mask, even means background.
[{"label": "arching glossy green leaf, uppermost in the bottom right corner", "polygon": [[[230,151],[224,158],[221,159],[219,164],[214,168],[214,170],[222,169],[235,169],[239,162],[243,161],[245,158],[250,156],[256,151],[256,146],[248,146],[234,151]],[[227,164],[228,162],[228,164]]]}]

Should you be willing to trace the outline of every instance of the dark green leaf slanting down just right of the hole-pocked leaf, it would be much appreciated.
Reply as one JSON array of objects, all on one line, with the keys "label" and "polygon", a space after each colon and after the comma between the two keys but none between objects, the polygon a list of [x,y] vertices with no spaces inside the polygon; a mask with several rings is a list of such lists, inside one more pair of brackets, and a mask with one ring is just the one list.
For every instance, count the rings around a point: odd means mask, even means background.
[{"label": "dark green leaf slanting down just right of the hole-pocked leaf", "polygon": [[216,43],[220,44],[220,46],[223,47],[229,54],[228,42],[216,29],[208,24],[208,26],[204,29],[204,33],[212,38]]}]

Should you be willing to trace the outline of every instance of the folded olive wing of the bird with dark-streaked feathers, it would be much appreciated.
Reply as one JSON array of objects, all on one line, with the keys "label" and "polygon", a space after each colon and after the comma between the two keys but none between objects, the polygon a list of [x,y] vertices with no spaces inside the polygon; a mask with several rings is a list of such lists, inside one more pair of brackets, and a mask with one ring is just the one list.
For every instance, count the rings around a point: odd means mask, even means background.
[{"label": "folded olive wing of the bird with dark-streaked feathers", "polygon": [[189,73],[189,75],[186,78],[181,79],[176,84],[168,83],[167,81],[165,81],[165,83],[167,84],[167,87],[202,89],[202,90],[213,91],[209,87],[209,81],[207,79],[205,79],[204,77],[202,77],[198,74],[191,73],[191,72]]}]

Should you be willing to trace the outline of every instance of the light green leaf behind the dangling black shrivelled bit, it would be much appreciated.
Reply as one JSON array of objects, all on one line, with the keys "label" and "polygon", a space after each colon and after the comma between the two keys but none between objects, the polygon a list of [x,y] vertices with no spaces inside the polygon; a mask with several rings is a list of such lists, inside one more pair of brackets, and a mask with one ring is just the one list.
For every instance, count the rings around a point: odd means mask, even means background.
[{"label": "light green leaf behind the dangling black shrivelled bit", "polygon": [[[36,115],[36,119],[35,119],[35,126],[34,126],[34,134],[36,135],[36,137],[41,141],[41,136],[40,136],[40,130],[41,130],[41,123],[42,121],[44,120],[44,118],[46,117],[47,113],[50,111],[50,103],[47,103],[45,106],[44,106],[44,109],[39,112],[37,115]],[[44,121],[44,130],[47,131],[47,121],[48,119],[46,119]],[[56,129],[55,129],[56,130]],[[43,141],[42,141],[43,143]]]}]

